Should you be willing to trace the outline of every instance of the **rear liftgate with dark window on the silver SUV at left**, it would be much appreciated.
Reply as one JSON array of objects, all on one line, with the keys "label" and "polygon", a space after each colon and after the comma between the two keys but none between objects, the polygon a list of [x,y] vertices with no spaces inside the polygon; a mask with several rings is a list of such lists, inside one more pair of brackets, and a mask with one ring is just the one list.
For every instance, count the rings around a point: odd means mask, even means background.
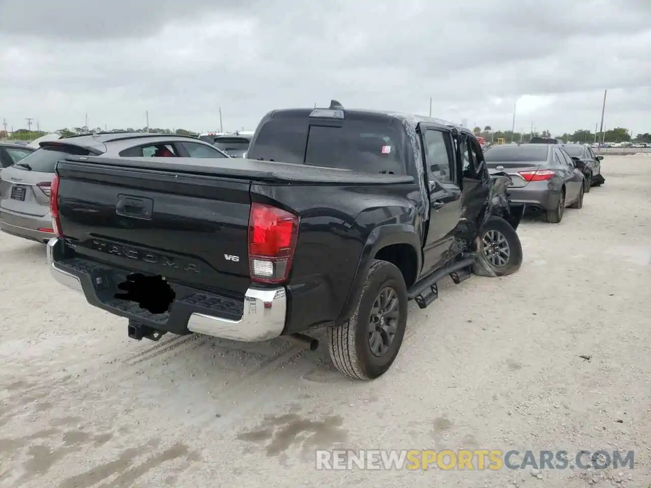
[{"label": "rear liftgate with dark window on the silver SUV at left", "polygon": [[3,169],[0,211],[44,217],[49,212],[49,187],[57,161],[66,154],[88,156],[89,150],[70,144],[48,144]]}]

